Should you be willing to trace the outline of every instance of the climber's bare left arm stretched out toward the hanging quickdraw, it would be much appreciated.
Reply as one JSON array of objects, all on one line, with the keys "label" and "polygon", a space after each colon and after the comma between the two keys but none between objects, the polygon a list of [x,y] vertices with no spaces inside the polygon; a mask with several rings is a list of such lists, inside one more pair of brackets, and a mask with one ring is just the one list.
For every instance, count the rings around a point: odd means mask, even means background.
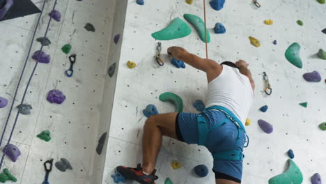
[{"label": "climber's bare left arm stretched out toward the hanging quickdraw", "polygon": [[168,54],[173,56],[175,59],[183,61],[190,66],[206,72],[208,82],[215,79],[222,72],[222,66],[219,63],[211,59],[202,59],[195,54],[187,52],[182,47],[169,47]]}]

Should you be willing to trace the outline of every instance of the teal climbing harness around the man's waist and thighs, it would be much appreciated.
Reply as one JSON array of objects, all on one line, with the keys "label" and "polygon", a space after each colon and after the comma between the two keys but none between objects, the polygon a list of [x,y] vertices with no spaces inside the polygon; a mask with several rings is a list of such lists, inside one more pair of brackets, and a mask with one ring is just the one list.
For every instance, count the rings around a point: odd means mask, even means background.
[{"label": "teal climbing harness around the man's waist and thighs", "polygon": [[212,107],[208,107],[206,108],[203,112],[208,111],[208,110],[215,110],[218,112],[222,112],[226,115],[226,118],[224,119],[224,121],[221,121],[220,123],[217,123],[217,125],[214,125],[212,128],[208,128],[208,123],[207,123],[207,119],[205,118],[205,116],[203,116],[203,114],[199,114],[199,116],[197,116],[197,123],[198,123],[198,135],[199,135],[199,145],[201,146],[205,146],[207,140],[208,140],[208,135],[210,133],[210,131],[212,129],[218,128],[221,125],[224,125],[226,123],[226,120],[230,120],[233,123],[235,123],[235,125],[237,125],[238,127],[238,137],[237,140],[235,141],[235,146],[233,148],[233,150],[231,151],[222,151],[222,152],[215,152],[212,153],[212,157],[215,160],[242,160],[244,158],[244,155],[242,153],[242,151],[238,151],[235,150],[238,141],[240,139],[240,134],[243,133],[246,137],[247,137],[247,145],[244,146],[244,148],[247,148],[249,146],[249,137],[246,134],[246,130],[244,129],[244,126],[242,125],[241,121],[228,109],[226,109],[225,107],[222,106],[212,106]]}]

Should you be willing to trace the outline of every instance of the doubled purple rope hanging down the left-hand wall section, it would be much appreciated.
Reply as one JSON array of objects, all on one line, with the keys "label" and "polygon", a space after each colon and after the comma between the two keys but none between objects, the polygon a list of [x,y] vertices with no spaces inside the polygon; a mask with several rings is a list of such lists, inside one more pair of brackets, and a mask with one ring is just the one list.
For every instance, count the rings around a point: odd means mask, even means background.
[{"label": "doubled purple rope hanging down the left-hand wall section", "polygon": [[[9,112],[8,112],[8,116],[7,116],[7,119],[6,119],[6,123],[4,125],[3,132],[2,132],[2,135],[1,135],[0,147],[1,147],[1,144],[2,144],[2,141],[3,141],[3,137],[4,137],[5,133],[6,133],[6,128],[8,127],[8,122],[9,122],[9,119],[10,119],[10,115],[11,115],[11,112],[13,111],[13,105],[14,105],[15,100],[16,100],[18,89],[20,88],[20,83],[22,82],[22,76],[24,75],[24,71],[26,69],[26,63],[29,60],[29,56],[31,54],[31,48],[33,46],[33,41],[34,41],[35,36],[36,36],[36,31],[38,30],[38,25],[40,24],[40,19],[42,17],[42,13],[44,11],[45,3],[46,2],[47,1],[44,1],[43,2],[42,9],[41,9],[41,12],[40,12],[40,16],[38,17],[38,22],[37,22],[36,27],[35,27],[34,32],[33,32],[33,37],[32,37],[32,40],[31,40],[31,44],[29,45],[29,52],[27,52],[27,56],[26,56],[26,59],[24,61],[24,66],[23,66],[23,69],[22,69],[22,73],[20,74],[20,79],[18,79],[18,83],[17,83],[16,89],[15,89],[15,94],[13,95],[13,102],[12,102],[12,104],[10,106],[10,109],[9,109]],[[54,10],[54,8],[56,8],[56,2],[57,2],[57,0],[54,1],[54,6],[53,6],[52,10]],[[44,36],[44,38],[47,36],[47,32],[49,31],[49,25],[51,23],[51,20],[52,20],[52,17],[49,18],[49,22],[47,23],[47,28],[45,29],[45,36]],[[42,49],[43,49],[43,45],[41,45],[41,47],[40,47],[40,52],[42,52]],[[26,93],[27,93],[27,91],[29,89],[29,84],[31,84],[31,79],[34,76],[34,73],[36,71],[36,68],[38,66],[38,63],[39,62],[35,62],[34,68],[33,68],[32,72],[31,72],[30,77],[29,77],[29,81],[27,82],[26,88],[25,88],[24,93],[22,95],[22,101],[20,102],[20,104],[23,104],[23,102],[24,102],[24,99],[26,97]],[[7,144],[10,144],[10,141],[11,141],[11,139],[13,137],[13,132],[14,132],[15,127],[17,125],[18,116],[20,116],[20,112],[19,111],[17,111],[16,117],[15,117],[15,121],[13,123],[13,127],[11,128],[11,132],[10,132],[10,136],[8,138],[8,141],[7,141],[8,143]],[[0,169],[2,167],[4,158],[5,158],[5,154],[2,154],[1,162],[0,162]]]}]

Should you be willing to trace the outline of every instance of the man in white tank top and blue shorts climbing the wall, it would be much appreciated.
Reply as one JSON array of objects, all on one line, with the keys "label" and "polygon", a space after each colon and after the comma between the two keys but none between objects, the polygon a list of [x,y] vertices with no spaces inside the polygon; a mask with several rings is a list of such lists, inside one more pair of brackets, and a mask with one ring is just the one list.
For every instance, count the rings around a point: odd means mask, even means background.
[{"label": "man in white tank top and blue shorts climbing the wall", "polygon": [[181,47],[169,47],[167,52],[206,72],[208,108],[200,114],[173,112],[150,116],[143,127],[142,167],[138,164],[136,168],[119,166],[116,169],[127,179],[153,184],[157,179],[155,164],[162,136],[167,136],[208,148],[214,158],[212,171],[217,184],[241,183],[242,151],[247,137],[242,122],[245,122],[254,100],[254,80],[249,64],[240,60],[220,65]]}]

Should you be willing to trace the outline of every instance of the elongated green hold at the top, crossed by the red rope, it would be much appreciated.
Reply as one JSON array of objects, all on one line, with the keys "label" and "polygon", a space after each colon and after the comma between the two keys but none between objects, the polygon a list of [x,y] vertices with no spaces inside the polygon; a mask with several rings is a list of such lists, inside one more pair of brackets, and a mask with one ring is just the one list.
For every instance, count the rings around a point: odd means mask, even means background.
[{"label": "elongated green hold at the top, crossed by the red rope", "polygon": [[[199,33],[199,36],[201,37],[201,40],[205,43],[205,23],[203,22],[203,20],[201,20],[200,17],[192,14],[185,14],[183,15],[183,17],[195,27],[195,29]],[[210,43],[210,32],[208,31],[208,29],[206,29],[206,36],[207,43]]]}]

